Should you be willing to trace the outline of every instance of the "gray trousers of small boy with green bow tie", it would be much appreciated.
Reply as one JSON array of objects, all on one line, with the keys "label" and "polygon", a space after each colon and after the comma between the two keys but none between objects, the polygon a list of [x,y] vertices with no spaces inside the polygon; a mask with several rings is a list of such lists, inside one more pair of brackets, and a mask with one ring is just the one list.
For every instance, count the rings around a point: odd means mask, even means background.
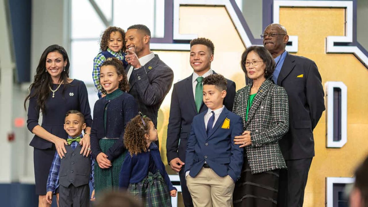
[{"label": "gray trousers of small boy with green bow tie", "polygon": [[89,184],[79,187],[59,185],[59,207],[89,207]]}]

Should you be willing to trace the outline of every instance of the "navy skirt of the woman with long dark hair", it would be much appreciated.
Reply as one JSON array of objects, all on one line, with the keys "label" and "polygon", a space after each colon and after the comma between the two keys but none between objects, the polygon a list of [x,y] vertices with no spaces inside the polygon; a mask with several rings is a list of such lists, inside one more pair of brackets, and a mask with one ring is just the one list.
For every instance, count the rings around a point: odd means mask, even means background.
[{"label": "navy skirt of the woman with long dark hair", "polygon": [[36,194],[46,195],[47,178],[55,156],[55,145],[50,149],[33,148],[33,165],[35,168]]}]

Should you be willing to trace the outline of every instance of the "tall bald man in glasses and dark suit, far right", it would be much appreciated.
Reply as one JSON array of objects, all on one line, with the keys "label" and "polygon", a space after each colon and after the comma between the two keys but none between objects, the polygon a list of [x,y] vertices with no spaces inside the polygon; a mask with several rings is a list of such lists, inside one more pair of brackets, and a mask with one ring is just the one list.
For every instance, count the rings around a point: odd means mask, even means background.
[{"label": "tall bald man in glasses and dark suit, far right", "polygon": [[289,97],[289,132],[279,141],[287,170],[280,171],[277,206],[302,207],[309,167],[314,157],[313,130],[325,110],[321,75],[316,64],[286,52],[286,29],[270,24],[262,35],[263,46],[276,62],[273,81]]}]

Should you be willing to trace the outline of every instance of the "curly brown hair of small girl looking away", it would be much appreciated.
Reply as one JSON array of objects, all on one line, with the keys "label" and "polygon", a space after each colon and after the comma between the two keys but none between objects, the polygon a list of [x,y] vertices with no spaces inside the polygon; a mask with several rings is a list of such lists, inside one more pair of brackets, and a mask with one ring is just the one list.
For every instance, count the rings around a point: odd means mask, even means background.
[{"label": "curly brown hair of small girl looking away", "polygon": [[[142,119],[146,125],[142,123]],[[124,133],[124,145],[131,156],[147,151],[147,142],[144,134],[149,133],[149,122],[152,122],[150,118],[137,115],[127,123]]]}]

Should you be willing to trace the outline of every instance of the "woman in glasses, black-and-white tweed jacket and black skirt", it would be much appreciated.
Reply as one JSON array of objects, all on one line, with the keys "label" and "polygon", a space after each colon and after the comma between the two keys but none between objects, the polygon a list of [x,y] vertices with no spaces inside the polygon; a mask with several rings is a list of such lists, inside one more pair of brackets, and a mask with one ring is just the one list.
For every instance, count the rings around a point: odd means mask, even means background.
[{"label": "woman in glasses, black-and-white tweed jacket and black skirt", "polygon": [[245,147],[236,206],[276,206],[279,171],[286,168],[278,141],[289,130],[289,103],[284,88],[272,82],[275,61],[261,46],[242,55],[242,68],[252,83],[237,91],[233,112],[243,118],[244,133],[235,144]]}]

